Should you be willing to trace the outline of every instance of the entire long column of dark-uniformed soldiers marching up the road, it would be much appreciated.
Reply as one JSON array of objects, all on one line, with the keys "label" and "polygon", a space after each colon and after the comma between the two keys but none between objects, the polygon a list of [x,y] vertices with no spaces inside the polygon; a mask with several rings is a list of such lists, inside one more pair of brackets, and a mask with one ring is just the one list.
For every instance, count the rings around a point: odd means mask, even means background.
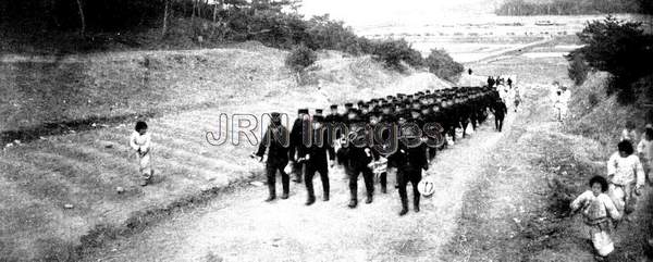
[{"label": "entire long column of dark-uniformed soldiers marching up the road", "polygon": [[[332,104],[325,116],[320,109],[312,115],[309,115],[308,109],[300,109],[289,134],[281,124],[280,114],[271,114],[272,122],[252,155],[262,161],[268,151],[266,173],[270,195],[266,201],[276,198],[276,172],[281,173],[282,179],[281,199],[288,198],[288,173],[294,173],[295,182],[304,180],[306,184],[306,204],[312,204],[316,201],[312,180],[318,172],[322,198],[329,201],[329,167],[333,167],[337,159],[349,179],[349,208],[358,204],[360,174],[367,189],[366,203],[371,203],[374,173],[380,180],[381,192],[386,194],[387,173],[396,171],[395,186],[402,201],[399,215],[408,212],[406,187],[409,182],[412,184],[414,210],[419,212],[418,183],[422,178],[422,170],[428,170],[436,152],[446,148],[445,136],[455,141],[456,129],[461,128],[465,137],[468,124],[476,129],[488,118],[488,111],[494,114],[495,127],[501,132],[507,113],[505,103],[492,87],[397,93],[359,101],[357,105],[346,103],[345,113],[340,114],[338,105]],[[292,172],[286,165],[292,166]]]}]

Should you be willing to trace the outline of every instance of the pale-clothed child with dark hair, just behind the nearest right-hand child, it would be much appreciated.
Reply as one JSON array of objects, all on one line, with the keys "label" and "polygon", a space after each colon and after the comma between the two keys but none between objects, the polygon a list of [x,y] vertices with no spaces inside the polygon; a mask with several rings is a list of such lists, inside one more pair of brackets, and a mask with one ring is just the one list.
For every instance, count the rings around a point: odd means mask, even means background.
[{"label": "pale-clothed child with dark hair, just behind the nearest right-hand child", "polygon": [[615,202],[619,213],[628,220],[628,214],[634,209],[634,196],[640,195],[644,185],[644,170],[634,149],[629,141],[620,141],[618,151],[607,161],[607,177],[609,180],[609,197]]}]

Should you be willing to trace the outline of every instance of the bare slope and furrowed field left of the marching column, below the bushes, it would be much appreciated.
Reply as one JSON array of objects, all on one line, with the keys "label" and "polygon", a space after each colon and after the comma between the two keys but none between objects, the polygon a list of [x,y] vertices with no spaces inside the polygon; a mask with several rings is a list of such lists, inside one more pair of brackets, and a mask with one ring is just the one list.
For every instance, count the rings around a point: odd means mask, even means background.
[{"label": "bare slope and furrowed field left of the marching column, below the bushes", "polygon": [[[75,247],[99,245],[230,185],[261,179],[261,166],[247,158],[254,146],[207,141],[207,132],[225,135],[221,113],[280,111],[294,117],[299,107],[326,109],[448,86],[428,73],[399,74],[369,57],[334,51],[321,52],[309,85],[297,86],[283,67],[285,54],[246,42],[53,60],[4,57],[2,130],[76,125],[62,127],[61,136],[26,134],[39,138],[3,149],[0,260],[75,260],[81,250]],[[88,117],[97,122],[87,125],[82,120]],[[126,145],[141,117],[150,125],[157,170],[153,185],[145,188],[137,186],[136,159]],[[125,192],[116,194],[116,187]]]}]

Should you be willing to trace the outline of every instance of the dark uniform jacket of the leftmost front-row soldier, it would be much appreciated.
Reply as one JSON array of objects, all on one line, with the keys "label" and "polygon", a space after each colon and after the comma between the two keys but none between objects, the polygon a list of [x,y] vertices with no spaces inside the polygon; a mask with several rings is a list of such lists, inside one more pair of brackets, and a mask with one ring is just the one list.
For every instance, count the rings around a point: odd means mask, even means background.
[{"label": "dark uniform jacket of the leftmost front-row soldier", "polygon": [[285,166],[288,163],[288,147],[284,145],[287,144],[285,141],[288,135],[287,132],[288,129],[285,126],[270,125],[266,130],[266,136],[259,145],[256,155],[262,158],[266,154],[266,149],[269,149],[267,163],[275,166]]}]

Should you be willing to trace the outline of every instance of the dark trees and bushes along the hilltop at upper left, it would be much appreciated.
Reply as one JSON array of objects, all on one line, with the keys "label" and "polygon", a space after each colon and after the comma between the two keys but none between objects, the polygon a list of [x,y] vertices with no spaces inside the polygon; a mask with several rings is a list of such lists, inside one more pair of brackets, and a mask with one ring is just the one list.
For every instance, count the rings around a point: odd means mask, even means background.
[{"label": "dark trees and bushes along the hilltop at upper left", "polygon": [[424,59],[403,39],[359,37],[329,15],[305,18],[297,12],[300,5],[301,0],[3,0],[0,26],[37,37],[41,32],[78,32],[85,41],[97,41],[99,34],[157,28],[161,41],[173,47],[180,39],[199,45],[256,40],[287,50],[301,46],[371,54],[392,70],[427,67],[449,80],[463,72],[443,50]]}]

